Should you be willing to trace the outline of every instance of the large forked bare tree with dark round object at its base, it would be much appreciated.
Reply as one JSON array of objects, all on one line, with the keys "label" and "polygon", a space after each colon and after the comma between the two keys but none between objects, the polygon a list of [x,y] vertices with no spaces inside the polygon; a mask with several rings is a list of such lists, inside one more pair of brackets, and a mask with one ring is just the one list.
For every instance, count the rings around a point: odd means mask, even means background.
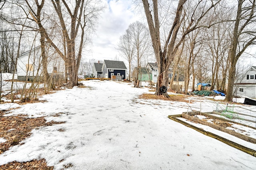
[{"label": "large forked bare tree with dark round object at its base", "polygon": [[[178,48],[182,44],[182,41],[186,37],[188,33],[200,27],[201,24],[208,25],[210,27],[211,22],[201,23],[202,18],[206,17],[211,10],[214,10],[214,7],[218,5],[219,1],[199,1],[194,6],[194,12],[192,12],[188,18],[188,25],[186,30],[182,34],[182,36],[178,36],[180,25],[182,21],[185,19],[186,15],[182,15],[184,4],[187,0],[179,0],[176,16],[172,23],[172,27],[168,33],[165,43],[161,44],[161,37],[160,37],[160,20],[159,20],[159,10],[158,8],[158,0],[152,0],[152,4],[149,4],[148,0],[142,0],[144,11],[146,14],[146,18],[148,21],[148,27],[150,30],[150,36],[154,48],[154,53],[156,57],[156,61],[158,63],[158,82],[157,82],[157,89],[156,95],[164,95],[168,98],[167,93],[162,93],[160,91],[161,86],[168,86],[168,69],[170,64],[172,63]],[[202,10],[201,12],[200,9]],[[153,16],[154,17],[153,17]]]}]

